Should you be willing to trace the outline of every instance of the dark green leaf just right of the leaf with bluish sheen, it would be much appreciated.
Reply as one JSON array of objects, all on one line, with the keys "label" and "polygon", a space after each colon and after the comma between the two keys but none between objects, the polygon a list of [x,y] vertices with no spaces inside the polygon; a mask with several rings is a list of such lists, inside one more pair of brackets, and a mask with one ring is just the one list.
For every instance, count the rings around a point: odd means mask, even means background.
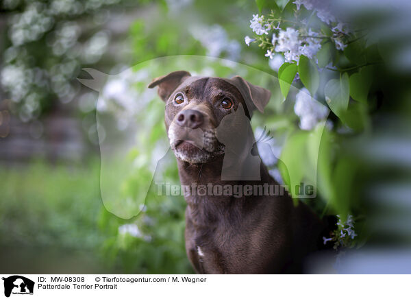
[{"label": "dark green leaf just right of the leaf with bluish sheen", "polygon": [[372,67],[363,67],[349,77],[349,95],[356,101],[366,104],[369,89],[373,83]]}]

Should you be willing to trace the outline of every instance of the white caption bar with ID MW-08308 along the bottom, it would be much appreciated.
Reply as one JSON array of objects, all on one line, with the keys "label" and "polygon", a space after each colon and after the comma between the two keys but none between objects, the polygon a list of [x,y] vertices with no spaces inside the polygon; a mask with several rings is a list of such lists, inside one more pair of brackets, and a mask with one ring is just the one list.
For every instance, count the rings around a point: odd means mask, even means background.
[{"label": "white caption bar with ID MW-08308 along the bottom", "polygon": [[411,298],[411,275],[3,274],[2,277],[1,291],[6,296],[8,292],[13,299],[27,298],[23,295],[31,295],[30,299],[129,298],[130,295],[179,299]]}]

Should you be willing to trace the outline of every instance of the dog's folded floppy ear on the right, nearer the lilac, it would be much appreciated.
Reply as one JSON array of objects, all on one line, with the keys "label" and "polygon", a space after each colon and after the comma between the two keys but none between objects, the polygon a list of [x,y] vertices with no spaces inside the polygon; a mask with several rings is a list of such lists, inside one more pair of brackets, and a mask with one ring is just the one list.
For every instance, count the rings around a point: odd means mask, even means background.
[{"label": "dog's folded floppy ear on the right, nearer the lilac", "polygon": [[257,108],[258,111],[264,112],[264,107],[269,103],[271,97],[271,92],[268,89],[253,85],[240,76],[234,76],[229,81],[238,88],[249,111]]}]

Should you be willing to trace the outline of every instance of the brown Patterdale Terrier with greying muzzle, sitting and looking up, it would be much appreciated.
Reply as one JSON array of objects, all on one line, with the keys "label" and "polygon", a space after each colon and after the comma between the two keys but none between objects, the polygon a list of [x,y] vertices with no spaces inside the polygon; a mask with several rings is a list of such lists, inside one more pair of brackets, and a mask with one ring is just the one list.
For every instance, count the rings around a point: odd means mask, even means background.
[{"label": "brown Patterdale Terrier with greying muzzle, sitting and looking up", "polygon": [[[324,230],[310,208],[294,206],[286,193],[229,192],[278,187],[258,154],[251,154],[249,119],[256,108],[264,110],[271,93],[242,77],[192,77],[187,71],[155,78],[149,88],[155,86],[166,102],[166,130],[181,183],[195,187],[185,195],[186,251],[195,271],[302,272],[304,257],[319,249]],[[208,190],[200,192],[199,186]],[[219,186],[223,192],[213,189]]]}]

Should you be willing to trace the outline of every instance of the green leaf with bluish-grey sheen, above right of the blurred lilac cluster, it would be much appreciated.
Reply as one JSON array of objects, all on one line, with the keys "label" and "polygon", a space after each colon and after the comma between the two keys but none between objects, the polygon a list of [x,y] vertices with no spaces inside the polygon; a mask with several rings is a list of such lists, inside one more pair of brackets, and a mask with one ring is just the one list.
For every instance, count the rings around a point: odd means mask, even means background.
[{"label": "green leaf with bluish-grey sheen, above right of the blurred lilac cluster", "polygon": [[324,88],[325,101],[329,108],[341,118],[348,108],[349,78],[348,74],[340,75],[340,79],[332,79]]}]

